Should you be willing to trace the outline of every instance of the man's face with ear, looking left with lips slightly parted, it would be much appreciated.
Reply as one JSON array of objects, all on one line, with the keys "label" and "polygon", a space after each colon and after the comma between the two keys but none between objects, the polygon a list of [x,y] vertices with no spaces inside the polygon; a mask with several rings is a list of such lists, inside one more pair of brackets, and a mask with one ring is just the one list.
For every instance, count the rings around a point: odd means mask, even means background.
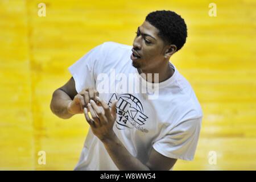
[{"label": "man's face with ear, looking left with lips slightly parted", "polygon": [[158,36],[159,30],[145,21],[138,27],[133,42],[133,66],[144,71],[154,71],[168,59],[168,46]]}]

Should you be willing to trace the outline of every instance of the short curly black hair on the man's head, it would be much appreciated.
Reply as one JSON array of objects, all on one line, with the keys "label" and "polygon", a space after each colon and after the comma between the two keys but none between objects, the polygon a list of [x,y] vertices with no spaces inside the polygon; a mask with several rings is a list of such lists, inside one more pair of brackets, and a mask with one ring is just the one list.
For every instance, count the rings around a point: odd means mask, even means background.
[{"label": "short curly black hair on the man's head", "polygon": [[168,44],[174,44],[179,51],[186,42],[187,25],[174,11],[154,11],[146,16],[146,21],[158,28],[159,36]]}]

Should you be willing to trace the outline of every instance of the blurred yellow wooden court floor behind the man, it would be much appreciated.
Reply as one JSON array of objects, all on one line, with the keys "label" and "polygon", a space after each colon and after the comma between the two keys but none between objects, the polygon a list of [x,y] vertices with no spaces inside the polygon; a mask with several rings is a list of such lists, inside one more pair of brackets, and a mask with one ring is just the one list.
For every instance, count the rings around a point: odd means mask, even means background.
[{"label": "blurred yellow wooden court floor behind the man", "polygon": [[[171,61],[195,89],[204,119],[193,162],[175,170],[256,169],[256,2],[0,0],[0,169],[72,170],[88,125],[83,115],[51,113],[53,91],[69,65],[106,41],[132,44],[145,16],[168,9],[188,25]],[[38,164],[38,152],[46,164]],[[210,151],[217,156],[212,164]]]}]

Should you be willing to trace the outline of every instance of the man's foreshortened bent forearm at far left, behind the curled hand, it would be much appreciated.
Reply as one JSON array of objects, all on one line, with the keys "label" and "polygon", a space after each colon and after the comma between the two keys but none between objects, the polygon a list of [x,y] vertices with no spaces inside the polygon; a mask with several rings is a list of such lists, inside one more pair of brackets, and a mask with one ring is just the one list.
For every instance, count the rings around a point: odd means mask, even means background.
[{"label": "man's foreshortened bent forearm at far left, behind the curled hand", "polygon": [[55,90],[50,105],[52,113],[63,119],[71,118],[73,114],[69,113],[67,109],[69,102],[72,102],[72,100],[67,93],[59,89]]}]

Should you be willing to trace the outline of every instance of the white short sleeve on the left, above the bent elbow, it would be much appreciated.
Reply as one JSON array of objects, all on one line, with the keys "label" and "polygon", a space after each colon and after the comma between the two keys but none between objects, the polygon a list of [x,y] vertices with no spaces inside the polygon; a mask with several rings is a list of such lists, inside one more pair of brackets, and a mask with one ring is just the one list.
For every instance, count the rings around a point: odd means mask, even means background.
[{"label": "white short sleeve on the left, above the bent elbow", "polygon": [[84,88],[95,88],[97,74],[101,72],[105,61],[104,44],[90,50],[68,70],[75,80],[77,93]]}]

